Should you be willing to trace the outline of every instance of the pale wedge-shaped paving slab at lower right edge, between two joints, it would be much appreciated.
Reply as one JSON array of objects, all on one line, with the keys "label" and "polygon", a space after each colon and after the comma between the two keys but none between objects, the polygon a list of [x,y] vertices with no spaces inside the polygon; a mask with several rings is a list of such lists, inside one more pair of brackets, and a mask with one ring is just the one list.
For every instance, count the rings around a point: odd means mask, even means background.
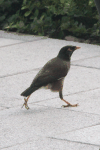
[{"label": "pale wedge-shaped paving slab at lower right edge, between two joints", "polygon": [[[100,121],[100,120],[99,120]],[[67,139],[72,141],[80,141],[82,143],[89,143],[98,145],[100,147],[100,123],[96,126],[91,126],[81,130],[68,132],[60,135],[56,135],[58,139]]]}]

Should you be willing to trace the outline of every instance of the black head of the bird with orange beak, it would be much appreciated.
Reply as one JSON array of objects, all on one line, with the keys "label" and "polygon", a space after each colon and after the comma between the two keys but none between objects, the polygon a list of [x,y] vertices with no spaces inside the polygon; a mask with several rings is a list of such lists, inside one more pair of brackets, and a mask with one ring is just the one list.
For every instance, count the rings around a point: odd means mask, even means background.
[{"label": "black head of the bird with orange beak", "polygon": [[76,49],[79,49],[80,47],[78,46],[71,46],[71,45],[68,45],[68,46],[64,46],[61,48],[61,50],[59,51],[58,53],[58,56],[59,58],[61,59],[64,59],[64,60],[70,60],[70,57],[72,55],[72,53],[76,50]]}]

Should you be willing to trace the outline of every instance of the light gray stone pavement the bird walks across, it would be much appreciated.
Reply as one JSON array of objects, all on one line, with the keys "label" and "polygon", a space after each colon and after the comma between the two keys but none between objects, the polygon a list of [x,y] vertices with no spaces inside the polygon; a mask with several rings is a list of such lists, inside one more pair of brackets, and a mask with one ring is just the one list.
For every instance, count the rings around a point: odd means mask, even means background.
[{"label": "light gray stone pavement the bird walks across", "polygon": [[[20,93],[65,45],[80,46],[71,59],[63,94],[40,89],[21,109]],[[100,149],[100,46],[0,31],[0,150]]]}]

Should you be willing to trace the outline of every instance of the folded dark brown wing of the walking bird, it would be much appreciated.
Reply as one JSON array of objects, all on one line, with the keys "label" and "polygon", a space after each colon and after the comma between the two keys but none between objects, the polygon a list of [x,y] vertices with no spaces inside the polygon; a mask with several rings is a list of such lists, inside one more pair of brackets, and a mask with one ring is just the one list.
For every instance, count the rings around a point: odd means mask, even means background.
[{"label": "folded dark brown wing of the walking bird", "polygon": [[49,83],[59,80],[67,75],[67,63],[62,60],[52,59],[36,75],[31,87],[42,87]]}]

